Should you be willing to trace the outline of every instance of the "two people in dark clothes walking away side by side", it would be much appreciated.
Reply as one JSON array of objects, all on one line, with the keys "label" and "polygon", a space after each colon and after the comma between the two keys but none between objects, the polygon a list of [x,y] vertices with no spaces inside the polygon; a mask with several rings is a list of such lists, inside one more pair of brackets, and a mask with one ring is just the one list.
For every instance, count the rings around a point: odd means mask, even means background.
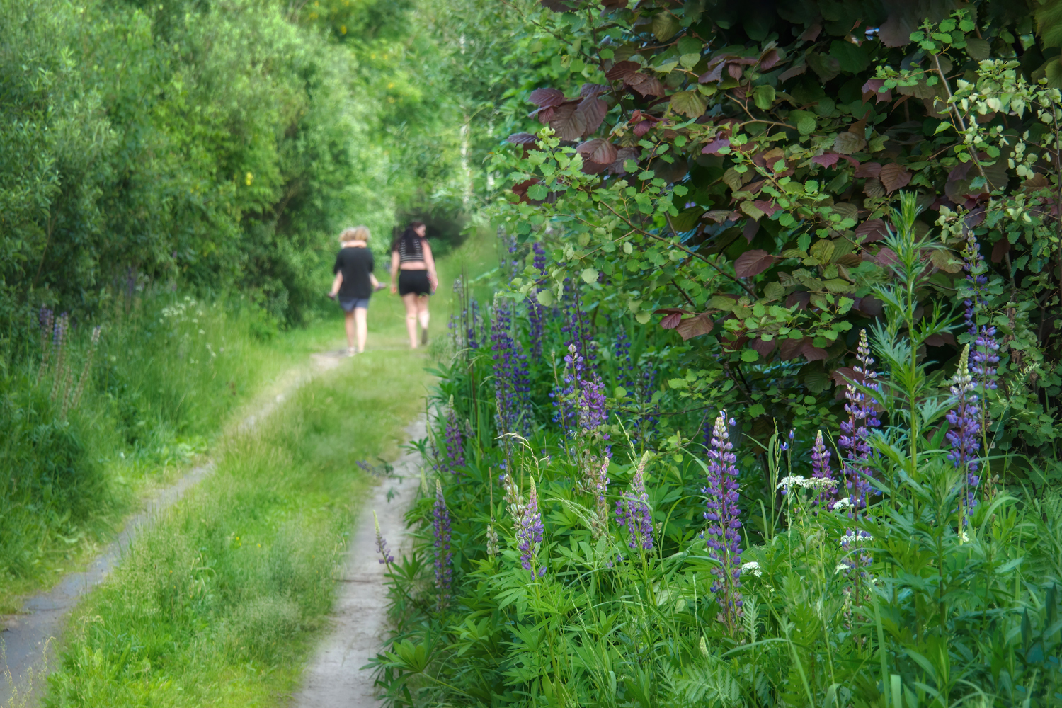
[{"label": "two people in dark clothes walking away side by side", "polygon": [[[406,330],[411,349],[428,343],[428,296],[439,287],[435,260],[426,232],[425,225],[414,221],[391,243],[391,292],[398,293],[406,307]],[[349,356],[365,350],[369,300],[373,292],[384,288],[373,274],[376,263],[369,249],[370,238],[365,226],[343,230],[332,269],[336,278],[328,293],[329,297],[339,300],[346,314]]]}]

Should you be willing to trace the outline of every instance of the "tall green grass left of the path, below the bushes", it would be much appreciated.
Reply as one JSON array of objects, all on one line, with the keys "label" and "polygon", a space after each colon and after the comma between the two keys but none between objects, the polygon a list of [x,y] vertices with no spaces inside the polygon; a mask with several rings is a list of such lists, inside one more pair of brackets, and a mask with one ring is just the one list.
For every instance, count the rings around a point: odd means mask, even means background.
[{"label": "tall green grass left of the path, below the bushes", "polygon": [[289,365],[239,300],[147,293],[99,326],[96,345],[81,323],[61,346],[41,327],[0,367],[0,609],[105,539],[145,485],[205,450]]}]

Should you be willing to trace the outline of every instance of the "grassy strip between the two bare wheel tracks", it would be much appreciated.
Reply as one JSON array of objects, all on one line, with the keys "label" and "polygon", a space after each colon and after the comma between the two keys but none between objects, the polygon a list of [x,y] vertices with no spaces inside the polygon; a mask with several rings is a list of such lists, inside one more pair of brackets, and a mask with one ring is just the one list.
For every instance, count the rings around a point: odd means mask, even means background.
[{"label": "grassy strip between the two bare wheel tracks", "polygon": [[224,441],[216,473],[71,618],[45,705],[242,707],[291,690],[369,483],[354,463],[395,454],[421,365],[370,351]]}]

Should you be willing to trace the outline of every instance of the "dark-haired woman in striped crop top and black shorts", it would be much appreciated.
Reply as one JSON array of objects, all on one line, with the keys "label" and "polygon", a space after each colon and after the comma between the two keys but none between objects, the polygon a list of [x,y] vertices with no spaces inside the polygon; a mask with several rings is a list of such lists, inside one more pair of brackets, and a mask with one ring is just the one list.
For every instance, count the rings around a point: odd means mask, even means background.
[{"label": "dark-haired woman in striped crop top and black shorts", "polygon": [[439,287],[435,259],[431,256],[426,232],[427,227],[422,222],[410,222],[391,244],[391,292],[401,295],[406,306],[411,349],[428,343],[428,296]]}]

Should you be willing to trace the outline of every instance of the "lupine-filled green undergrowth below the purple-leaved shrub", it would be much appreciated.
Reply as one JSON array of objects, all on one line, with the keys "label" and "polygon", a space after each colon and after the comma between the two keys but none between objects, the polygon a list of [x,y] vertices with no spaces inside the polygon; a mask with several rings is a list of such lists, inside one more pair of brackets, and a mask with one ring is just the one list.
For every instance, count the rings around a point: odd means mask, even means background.
[{"label": "lupine-filled green undergrowth below the purple-leaved shrub", "polygon": [[[871,291],[884,316],[859,333],[841,425],[761,446],[741,407],[658,424],[682,400],[673,384],[638,405],[606,397],[617,372],[632,392],[668,372],[658,344],[635,353],[628,324],[578,309],[593,282],[566,284],[553,316],[500,295],[485,320],[462,304],[427,442],[439,486],[410,515],[413,553],[389,563],[396,629],[375,661],[389,701],[1062,698],[1062,498],[991,471],[987,402],[1008,382],[979,300],[957,366],[935,374],[919,355],[952,316],[920,316],[923,256],[945,246],[920,235],[917,200],[888,214],[896,259]],[[966,265],[975,284],[984,266],[974,252]]]}]

